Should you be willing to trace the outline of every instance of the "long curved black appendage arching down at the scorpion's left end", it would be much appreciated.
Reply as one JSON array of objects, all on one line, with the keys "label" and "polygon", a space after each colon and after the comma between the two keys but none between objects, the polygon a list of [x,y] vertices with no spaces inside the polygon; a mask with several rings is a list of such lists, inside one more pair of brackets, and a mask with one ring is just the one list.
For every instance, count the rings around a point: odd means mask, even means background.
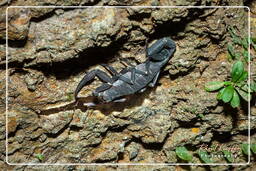
[{"label": "long curved black appendage arching down at the scorpion's left end", "polygon": [[75,90],[75,99],[77,99],[77,95],[80,92],[80,90],[92,79],[94,79],[95,77],[98,77],[101,81],[103,82],[107,82],[107,83],[112,83],[113,79],[110,78],[105,72],[101,71],[101,70],[92,70],[90,71],[88,74],[86,74],[84,76],[84,78],[80,81],[80,83],[78,84],[78,86],[76,87]]}]

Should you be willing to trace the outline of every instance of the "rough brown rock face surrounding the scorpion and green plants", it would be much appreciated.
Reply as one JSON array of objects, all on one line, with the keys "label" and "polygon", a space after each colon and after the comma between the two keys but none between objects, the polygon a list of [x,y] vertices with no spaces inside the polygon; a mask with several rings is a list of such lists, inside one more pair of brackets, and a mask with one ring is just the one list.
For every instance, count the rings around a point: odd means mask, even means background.
[{"label": "rough brown rock face surrounding the scorpion and green plants", "polygon": [[[26,1],[28,5],[242,5],[240,1]],[[12,5],[21,5],[14,1]],[[6,3],[3,3],[6,5]],[[26,5],[26,4],[22,4]],[[3,8],[5,8],[3,6]],[[252,9],[253,12],[254,8]],[[175,148],[186,146],[194,163],[202,144],[232,146],[247,141],[246,104],[238,110],[204,91],[212,80],[226,80],[227,27],[246,33],[244,9],[200,8],[9,8],[8,162],[10,163],[176,163]],[[1,14],[0,30],[5,16]],[[254,25],[252,26],[254,27]],[[0,38],[4,41],[5,34]],[[253,33],[255,34],[255,33]],[[95,80],[74,102],[73,91],[86,72],[117,58],[145,60],[145,40],[171,37],[177,50],[155,88],[88,109]],[[4,68],[5,46],[0,45]],[[255,63],[255,60],[254,60]],[[252,72],[255,72],[253,64]],[[101,68],[102,69],[102,68]],[[5,71],[0,71],[0,159],[5,151]],[[252,104],[253,105],[253,104]],[[255,143],[255,107],[252,108]],[[223,138],[225,137],[225,138]],[[218,152],[212,154],[217,155]],[[38,156],[43,157],[38,157]],[[238,152],[235,162],[246,162]],[[255,156],[254,156],[255,157]],[[252,157],[252,160],[255,158]],[[223,157],[214,158],[223,163]],[[128,166],[7,166],[16,170],[129,170]],[[248,166],[240,167],[244,169]],[[255,166],[252,166],[255,167]],[[201,166],[139,166],[133,170],[184,170]],[[211,167],[227,170],[229,166]]]}]

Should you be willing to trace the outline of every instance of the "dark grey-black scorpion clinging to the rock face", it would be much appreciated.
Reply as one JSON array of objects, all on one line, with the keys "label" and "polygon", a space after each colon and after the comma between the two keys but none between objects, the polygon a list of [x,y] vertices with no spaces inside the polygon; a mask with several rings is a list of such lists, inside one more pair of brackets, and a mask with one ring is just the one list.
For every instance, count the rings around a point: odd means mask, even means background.
[{"label": "dark grey-black scorpion clinging to the rock face", "polygon": [[[89,71],[76,87],[74,96],[77,101],[81,89],[95,77],[103,82],[96,88],[92,95],[101,103],[124,102],[124,96],[134,93],[142,93],[147,87],[154,87],[157,83],[160,70],[169,61],[176,50],[176,44],[169,37],[157,40],[149,48],[146,41],[146,61],[134,66],[126,61],[127,68],[117,72],[116,69],[107,64],[101,64],[111,76],[100,69]],[[90,104],[91,106],[95,103]]]}]

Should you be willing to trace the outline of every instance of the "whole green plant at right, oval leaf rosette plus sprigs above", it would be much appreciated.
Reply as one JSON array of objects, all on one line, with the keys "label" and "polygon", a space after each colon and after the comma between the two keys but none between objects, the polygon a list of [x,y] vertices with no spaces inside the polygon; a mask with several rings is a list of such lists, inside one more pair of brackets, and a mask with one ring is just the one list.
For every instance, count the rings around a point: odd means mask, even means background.
[{"label": "whole green plant at right, oval leaf rosette plus sprigs above", "polygon": [[[219,91],[217,99],[235,108],[240,106],[240,97],[245,101],[251,100],[251,96],[256,92],[256,78],[251,80],[250,89],[248,85],[248,72],[244,69],[244,64],[249,61],[249,45],[256,50],[256,38],[241,37],[234,27],[229,27],[232,42],[228,44],[227,50],[229,59],[237,60],[231,70],[230,81],[212,81],[205,85],[206,91]],[[253,55],[251,54],[251,59]]]}]

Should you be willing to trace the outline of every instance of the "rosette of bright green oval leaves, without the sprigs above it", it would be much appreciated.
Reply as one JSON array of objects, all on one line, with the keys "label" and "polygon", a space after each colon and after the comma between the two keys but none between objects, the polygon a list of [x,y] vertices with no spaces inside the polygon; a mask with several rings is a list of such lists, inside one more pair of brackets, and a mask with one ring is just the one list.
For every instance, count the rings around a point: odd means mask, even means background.
[{"label": "rosette of bright green oval leaves, without the sprigs above it", "polygon": [[231,70],[231,81],[212,81],[205,85],[206,91],[219,90],[217,99],[224,103],[230,103],[233,108],[240,106],[240,97],[248,101],[254,89],[247,85],[248,72],[244,70],[242,61],[233,64]]}]

